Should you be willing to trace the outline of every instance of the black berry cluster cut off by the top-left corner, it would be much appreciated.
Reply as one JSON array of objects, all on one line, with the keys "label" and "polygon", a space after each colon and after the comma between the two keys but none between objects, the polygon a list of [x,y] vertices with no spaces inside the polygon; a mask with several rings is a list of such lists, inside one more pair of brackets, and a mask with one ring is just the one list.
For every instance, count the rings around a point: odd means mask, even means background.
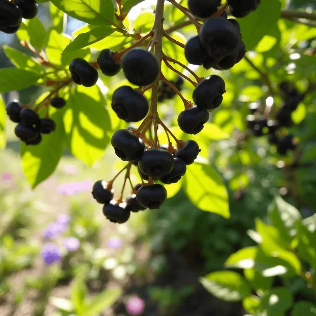
[{"label": "black berry cluster cut off by the top-left corner", "polygon": [[15,33],[21,26],[22,18],[33,19],[37,12],[35,0],[0,0],[0,31]]}]

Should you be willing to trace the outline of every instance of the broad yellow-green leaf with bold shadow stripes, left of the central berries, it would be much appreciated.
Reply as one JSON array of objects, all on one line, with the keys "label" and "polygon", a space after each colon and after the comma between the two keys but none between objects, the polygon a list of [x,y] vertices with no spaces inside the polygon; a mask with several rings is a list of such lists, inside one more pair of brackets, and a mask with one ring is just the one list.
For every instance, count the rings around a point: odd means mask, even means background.
[{"label": "broad yellow-green leaf with bold shadow stripes, left of the central berries", "polygon": [[91,166],[103,155],[110,140],[111,122],[97,85],[77,86],[70,94],[64,125],[66,145],[74,156]]}]

